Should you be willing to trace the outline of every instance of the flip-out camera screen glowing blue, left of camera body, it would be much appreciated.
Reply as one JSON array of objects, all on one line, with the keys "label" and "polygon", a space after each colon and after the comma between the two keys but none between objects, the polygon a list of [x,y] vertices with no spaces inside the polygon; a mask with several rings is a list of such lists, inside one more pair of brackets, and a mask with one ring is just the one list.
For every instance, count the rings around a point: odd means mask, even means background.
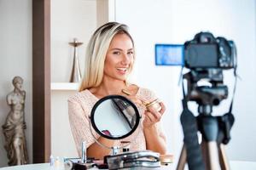
[{"label": "flip-out camera screen glowing blue, left of camera body", "polygon": [[184,49],[180,44],[155,44],[155,65],[183,65]]}]

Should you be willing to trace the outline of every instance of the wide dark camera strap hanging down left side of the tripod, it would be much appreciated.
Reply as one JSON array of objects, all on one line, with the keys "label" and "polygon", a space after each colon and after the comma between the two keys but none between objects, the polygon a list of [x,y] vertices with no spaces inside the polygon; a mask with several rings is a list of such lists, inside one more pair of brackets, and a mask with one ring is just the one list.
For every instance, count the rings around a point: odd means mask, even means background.
[{"label": "wide dark camera strap hanging down left side of the tripod", "polygon": [[189,169],[192,170],[204,170],[205,164],[202,158],[201,146],[198,141],[198,128],[196,117],[193,115],[188,108],[188,102],[185,97],[184,86],[183,87],[183,112],[181,114],[180,120],[183,127],[184,134],[184,146],[187,152],[187,162]]}]

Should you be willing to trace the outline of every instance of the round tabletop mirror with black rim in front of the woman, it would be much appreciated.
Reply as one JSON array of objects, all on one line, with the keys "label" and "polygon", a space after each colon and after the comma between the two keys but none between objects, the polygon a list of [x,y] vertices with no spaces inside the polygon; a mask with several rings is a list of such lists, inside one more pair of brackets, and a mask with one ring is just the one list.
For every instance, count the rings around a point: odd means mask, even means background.
[{"label": "round tabletop mirror with black rim in front of the woman", "polygon": [[90,122],[96,133],[107,139],[124,139],[139,124],[137,106],[120,95],[99,99],[90,113]]}]

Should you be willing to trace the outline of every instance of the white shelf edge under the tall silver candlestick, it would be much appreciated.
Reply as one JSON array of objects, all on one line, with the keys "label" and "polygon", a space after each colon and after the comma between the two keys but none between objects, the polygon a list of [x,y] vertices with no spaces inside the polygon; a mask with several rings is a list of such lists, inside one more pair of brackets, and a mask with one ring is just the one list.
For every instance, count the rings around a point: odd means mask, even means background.
[{"label": "white shelf edge under the tall silver candlestick", "polygon": [[51,90],[79,90],[79,82],[51,82]]}]

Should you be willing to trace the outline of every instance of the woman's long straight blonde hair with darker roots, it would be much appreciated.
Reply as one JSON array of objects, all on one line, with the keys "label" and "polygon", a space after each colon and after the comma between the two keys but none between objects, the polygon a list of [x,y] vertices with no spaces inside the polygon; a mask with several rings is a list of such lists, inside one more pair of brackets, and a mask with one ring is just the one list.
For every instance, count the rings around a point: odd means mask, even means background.
[{"label": "woman's long straight blonde hair with darker roots", "polygon": [[[97,87],[101,84],[108,48],[116,34],[126,34],[131,38],[131,42],[134,46],[133,39],[126,25],[118,22],[108,22],[99,27],[92,37],[90,37],[86,48],[84,77],[79,88],[80,92],[84,89]],[[132,70],[132,65],[133,64],[131,64],[129,71]]]}]

